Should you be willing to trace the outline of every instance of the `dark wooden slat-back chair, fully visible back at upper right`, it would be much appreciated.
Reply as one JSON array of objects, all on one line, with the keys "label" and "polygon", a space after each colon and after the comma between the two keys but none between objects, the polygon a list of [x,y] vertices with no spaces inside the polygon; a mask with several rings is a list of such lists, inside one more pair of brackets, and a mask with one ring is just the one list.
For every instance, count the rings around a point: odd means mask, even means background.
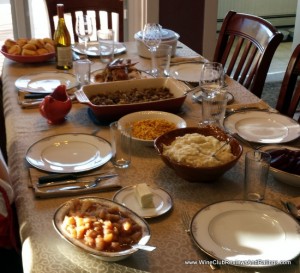
[{"label": "dark wooden slat-back chair, fully visible back at upper right", "polygon": [[214,53],[225,73],[261,97],[273,55],[283,40],[268,21],[229,11],[222,24]]}]

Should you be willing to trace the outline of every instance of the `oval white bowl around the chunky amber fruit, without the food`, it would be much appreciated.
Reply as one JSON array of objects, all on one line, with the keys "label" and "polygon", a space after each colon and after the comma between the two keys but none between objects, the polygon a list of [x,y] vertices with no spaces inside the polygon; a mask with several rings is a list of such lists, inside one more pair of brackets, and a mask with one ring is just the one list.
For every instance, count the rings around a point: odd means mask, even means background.
[{"label": "oval white bowl around the chunky amber fruit, without the food", "polygon": [[[87,201],[88,203],[92,204],[100,204],[103,208],[109,209],[118,209],[119,214],[121,215],[127,215],[130,219],[132,219],[137,225],[141,227],[141,233],[142,236],[139,240],[140,245],[146,245],[147,242],[150,240],[150,227],[147,224],[147,222],[138,216],[135,212],[128,209],[127,207],[111,201],[109,199],[105,198],[99,198],[99,197],[81,197],[78,198],[80,201]],[[76,201],[76,200],[75,200]],[[100,251],[96,250],[95,248],[87,246],[82,241],[73,238],[70,236],[70,234],[66,231],[66,229],[63,226],[63,221],[65,218],[65,215],[68,214],[70,209],[74,206],[74,200],[67,201],[66,203],[62,204],[55,212],[54,218],[53,218],[53,225],[58,234],[65,239],[67,242],[72,244],[73,246],[76,246],[80,248],[81,250],[85,251],[86,253],[93,255],[94,257],[99,258],[100,260],[107,261],[107,262],[115,262],[120,261],[125,258],[128,258],[132,254],[139,251],[137,248],[131,247],[129,249],[123,250],[123,251]],[[122,217],[122,216],[121,216]],[[125,218],[124,218],[125,219]]]}]

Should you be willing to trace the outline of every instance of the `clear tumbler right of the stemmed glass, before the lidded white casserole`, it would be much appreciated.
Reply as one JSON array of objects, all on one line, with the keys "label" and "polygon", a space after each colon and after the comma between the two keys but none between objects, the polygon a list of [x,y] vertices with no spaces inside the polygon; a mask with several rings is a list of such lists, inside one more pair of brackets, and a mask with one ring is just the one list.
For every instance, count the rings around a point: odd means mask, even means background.
[{"label": "clear tumbler right of the stemmed glass, before the lidded white casserole", "polygon": [[170,74],[172,46],[160,44],[152,54],[151,74],[154,77],[166,77]]}]

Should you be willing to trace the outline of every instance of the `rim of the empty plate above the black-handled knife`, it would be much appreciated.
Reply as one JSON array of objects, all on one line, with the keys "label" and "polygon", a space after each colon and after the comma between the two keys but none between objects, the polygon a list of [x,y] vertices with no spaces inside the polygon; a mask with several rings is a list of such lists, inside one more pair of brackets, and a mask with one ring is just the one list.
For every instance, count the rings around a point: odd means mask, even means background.
[{"label": "rim of the empty plate above the black-handled knife", "polygon": [[[66,171],[66,170],[53,170],[53,169],[49,169],[45,166],[40,166],[40,165],[36,165],[36,164],[33,164],[33,162],[29,159],[29,153],[30,153],[30,150],[32,150],[32,148],[34,148],[34,146],[36,145],[39,145],[40,143],[42,143],[43,141],[47,141],[48,139],[51,139],[51,138],[57,138],[57,137],[62,137],[62,136],[85,136],[85,137],[89,137],[89,138],[94,138],[94,139],[99,139],[101,140],[103,143],[107,144],[109,147],[110,147],[110,153],[108,155],[106,155],[105,159],[104,160],[101,160],[98,164],[95,164],[93,165],[92,167],[90,168],[87,168],[85,170],[72,170],[72,171]],[[26,154],[25,154],[25,159],[26,161],[33,167],[39,169],[39,170],[42,170],[42,171],[47,171],[47,172],[53,172],[53,173],[81,173],[81,172],[86,172],[86,171],[90,171],[90,170],[94,170],[100,166],[103,166],[104,164],[106,164],[112,157],[112,147],[111,147],[111,143],[109,141],[107,141],[106,139],[102,138],[102,137],[99,137],[99,136],[95,136],[95,135],[90,135],[90,134],[85,134],[85,133],[62,133],[62,134],[57,134],[57,135],[51,135],[51,136],[48,136],[48,137],[44,137],[34,143],[32,143],[29,148],[27,149],[26,151]]]}]

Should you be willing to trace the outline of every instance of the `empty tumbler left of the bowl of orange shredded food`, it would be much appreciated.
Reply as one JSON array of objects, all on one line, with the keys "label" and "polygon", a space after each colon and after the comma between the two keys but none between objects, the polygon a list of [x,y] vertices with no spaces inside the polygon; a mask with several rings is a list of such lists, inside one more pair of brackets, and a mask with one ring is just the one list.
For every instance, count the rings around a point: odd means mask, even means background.
[{"label": "empty tumbler left of the bowl of orange shredded food", "polygon": [[112,163],[117,168],[128,168],[131,163],[131,127],[115,121],[110,124]]}]

